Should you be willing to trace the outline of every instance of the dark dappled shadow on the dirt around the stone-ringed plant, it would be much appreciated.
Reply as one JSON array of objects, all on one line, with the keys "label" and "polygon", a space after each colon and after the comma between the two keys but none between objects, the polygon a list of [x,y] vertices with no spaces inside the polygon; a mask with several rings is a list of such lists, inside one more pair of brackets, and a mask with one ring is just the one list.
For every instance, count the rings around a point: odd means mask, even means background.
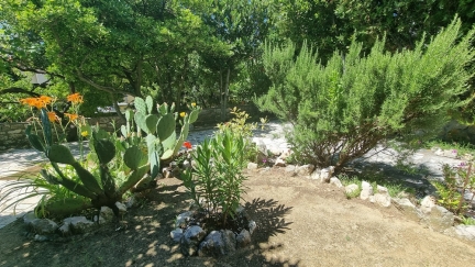
[{"label": "dark dappled shadow on the dirt around the stone-ringed plant", "polygon": [[298,266],[290,259],[266,258],[269,236],[291,226],[284,216],[291,208],[273,199],[254,199],[246,211],[258,224],[250,247],[219,258],[184,257],[169,236],[175,218],[189,197],[178,179],[165,179],[137,208],[91,233],[34,242],[22,220],[0,230],[0,266]]}]

